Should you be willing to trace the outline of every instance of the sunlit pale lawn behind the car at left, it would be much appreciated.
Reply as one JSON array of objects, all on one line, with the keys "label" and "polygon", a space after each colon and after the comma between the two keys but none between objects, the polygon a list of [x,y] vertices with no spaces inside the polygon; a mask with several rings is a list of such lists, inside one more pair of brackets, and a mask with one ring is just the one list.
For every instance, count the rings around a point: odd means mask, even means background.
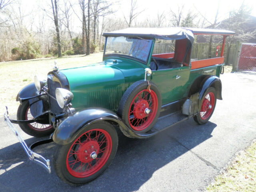
[{"label": "sunlit pale lawn behind the car at left", "polygon": [[52,70],[54,60],[60,69],[84,66],[102,61],[102,53],[89,56],[69,56],[63,58],[41,58],[24,61],[0,62],[0,107],[8,106],[11,115],[16,114],[19,102],[18,92],[26,85],[34,82],[34,76],[47,76]]}]

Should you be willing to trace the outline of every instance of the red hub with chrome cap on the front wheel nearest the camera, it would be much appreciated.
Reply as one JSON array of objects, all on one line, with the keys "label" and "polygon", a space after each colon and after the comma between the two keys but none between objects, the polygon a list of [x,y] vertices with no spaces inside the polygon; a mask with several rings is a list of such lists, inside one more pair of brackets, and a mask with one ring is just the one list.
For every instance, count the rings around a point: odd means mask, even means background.
[{"label": "red hub with chrome cap on the front wheel nearest the camera", "polygon": [[77,150],[77,157],[83,163],[88,163],[97,158],[97,152],[99,151],[100,146],[98,142],[91,140],[85,141],[82,146]]}]

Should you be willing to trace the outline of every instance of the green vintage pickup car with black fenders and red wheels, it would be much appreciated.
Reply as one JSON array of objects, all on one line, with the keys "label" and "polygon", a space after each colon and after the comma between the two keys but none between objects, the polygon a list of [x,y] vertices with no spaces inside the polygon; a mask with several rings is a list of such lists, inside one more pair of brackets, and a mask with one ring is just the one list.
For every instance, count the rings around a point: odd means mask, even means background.
[{"label": "green vintage pickup car with black fenders and red wheels", "polygon": [[[59,70],[17,95],[17,120],[4,118],[30,160],[51,172],[50,160],[32,151],[54,141],[54,168],[69,184],[98,177],[112,162],[116,129],[130,138],[148,138],[193,117],[205,124],[222,100],[220,73],[228,30],[127,28],[106,32],[103,61]],[[191,58],[194,35],[223,36],[220,57]],[[6,107],[7,109],[7,107]],[[50,136],[26,145],[12,123],[31,136]]]}]

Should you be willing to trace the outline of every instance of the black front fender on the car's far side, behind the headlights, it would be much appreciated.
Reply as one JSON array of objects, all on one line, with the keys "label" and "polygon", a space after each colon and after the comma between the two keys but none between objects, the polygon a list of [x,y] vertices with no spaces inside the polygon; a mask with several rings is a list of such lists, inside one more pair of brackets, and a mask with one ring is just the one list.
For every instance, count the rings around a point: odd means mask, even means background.
[{"label": "black front fender on the car's far side, behind the headlights", "polygon": [[50,112],[48,96],[40,95],[34,83],[25,86],[18,93],[16,101],[20,101],[20,104],[22,104],[22,102],[24,102],[23,100],[28,100],[30,104],[30,112],[35,118],[42,114],[45,115],[48,111]]}]

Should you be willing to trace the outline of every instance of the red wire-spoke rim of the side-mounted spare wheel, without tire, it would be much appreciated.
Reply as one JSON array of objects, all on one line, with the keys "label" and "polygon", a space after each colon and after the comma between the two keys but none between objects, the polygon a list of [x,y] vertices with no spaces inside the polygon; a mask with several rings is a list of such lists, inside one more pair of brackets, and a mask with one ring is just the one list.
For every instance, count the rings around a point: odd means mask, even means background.
[{"label": "red wire-spoke rim of the side-mounted spare wheel, without tire", "polygon": [[[142,131],[154,120],[158,108],[158,100],[153,90],[144,89],[132,100],[128,113],[129,124],[132,129]],[[150,110],[147,114],[145,110]]]}]

